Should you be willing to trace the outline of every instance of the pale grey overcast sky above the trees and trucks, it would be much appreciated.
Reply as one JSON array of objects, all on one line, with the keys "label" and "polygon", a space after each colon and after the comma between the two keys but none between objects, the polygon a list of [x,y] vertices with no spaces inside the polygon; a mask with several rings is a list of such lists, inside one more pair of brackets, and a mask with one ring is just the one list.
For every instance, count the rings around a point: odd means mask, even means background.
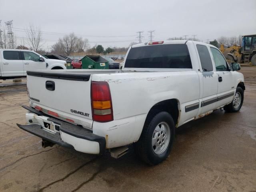
[{"label": "pale grey overcast sky above the trees and trucks", "polygon": [[40,26],[49,49],[71,32],[105,48],[138,42],[138,31],[147,42],[148,30],[155,30],[153,40],[197,35],[207,42],[256,34],[256,0],[0,0],[0,20],[0,29],[13,20],[17,44],[29,23]]}]

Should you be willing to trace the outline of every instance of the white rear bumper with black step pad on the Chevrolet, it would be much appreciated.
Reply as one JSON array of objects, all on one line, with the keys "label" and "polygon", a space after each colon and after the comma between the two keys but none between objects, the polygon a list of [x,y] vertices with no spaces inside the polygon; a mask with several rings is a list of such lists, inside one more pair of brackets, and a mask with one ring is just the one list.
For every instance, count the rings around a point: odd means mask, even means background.
[{"label": "white rear bumper with black step pad on the Chevrolet", "polygon": [[[81,126],[56,118],[38,116],[31,112],[26,113],[26,120],[27,125],[17,124],[17,126],[44,140],[88,154],[103,154],[105,152],[106,139]],[[51,124],[54,131],[46,128],[45,123]]]}]

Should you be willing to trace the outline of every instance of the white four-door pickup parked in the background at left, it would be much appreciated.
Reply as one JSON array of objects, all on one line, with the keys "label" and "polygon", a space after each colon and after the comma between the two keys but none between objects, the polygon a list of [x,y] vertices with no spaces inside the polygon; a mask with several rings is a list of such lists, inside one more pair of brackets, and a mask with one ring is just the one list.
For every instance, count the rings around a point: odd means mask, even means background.
[{"label": "white four-door pickup parked in the background at left", "polygon": [[24,78],[30,70],[66,69],[66,64],[30,50],[0,49],[0,79]]}]

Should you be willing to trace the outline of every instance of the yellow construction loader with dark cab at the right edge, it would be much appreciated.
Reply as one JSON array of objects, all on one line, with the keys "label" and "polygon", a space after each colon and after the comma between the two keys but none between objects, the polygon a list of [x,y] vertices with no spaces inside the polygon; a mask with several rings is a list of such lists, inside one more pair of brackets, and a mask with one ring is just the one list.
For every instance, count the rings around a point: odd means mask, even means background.
[{"label": "yellow construction loader with dark cab at the right edge", "polygon": [[242,46],[220,45],[220,51],[228,62],[252,63],[256,66],[256,34],[242,37]]}]

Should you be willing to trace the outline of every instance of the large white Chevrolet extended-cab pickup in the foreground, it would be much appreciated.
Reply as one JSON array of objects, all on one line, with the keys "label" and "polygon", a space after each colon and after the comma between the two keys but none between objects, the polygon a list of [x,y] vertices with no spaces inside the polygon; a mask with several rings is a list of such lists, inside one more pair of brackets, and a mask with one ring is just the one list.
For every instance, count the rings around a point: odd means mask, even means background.
[{"label": "large white Chevrolet extended-cab pickup in the foreground", "polygon": [[244,76],[218,48],[174,40],[129,48],[122,70],[28,71],[21,129],[42,146],[118,158],[134,144],[144,162],[167,158],[175,129],[224,107],[240,110]]}]

